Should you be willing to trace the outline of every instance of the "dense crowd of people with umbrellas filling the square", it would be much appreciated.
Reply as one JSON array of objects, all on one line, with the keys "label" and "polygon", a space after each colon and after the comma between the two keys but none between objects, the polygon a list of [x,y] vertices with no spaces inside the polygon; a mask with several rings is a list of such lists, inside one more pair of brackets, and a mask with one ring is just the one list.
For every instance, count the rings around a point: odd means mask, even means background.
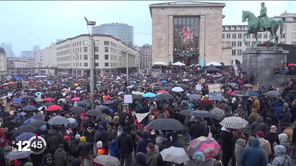
[{"label": "dense crowd of people with umbrellas filling the square", "polygon": [[[161,155],[172,146],[183,147],[180,133],[188,135],[189,141],[212,136],[221,145],[219,154],[211,160],[199,161],[204,166],[296,164],[291,160],[296,155],[296,150],[291,150],[296,144],[296,129],[293,128],[296,125],[296,79],[291,78],[278,87],[253,91],[244,72],[240,71],[240,76],[236,77],[233,67],[222,65],[219,68],[219,72],[210,74],[200,66],[174,66],[172,74],[130,75],[129,80],[125,80],[125,76],[100,76],[96,79],[98,93],[94,96],[94,108],[91,108],[88,77],[11,78],[0,85],[0,165],[101,166],[103,164],[96,161],[100,155],[117,158],[120,166],[185,165],[188,162],[170,162]],[[200,82],[201,79],[205,82]],[[222,97],[214,102],[209,99],[208,86],[215,83],[221,83]],[[202,85],[202,89],[195,89],[195,85]],[[172,91],[173,87],[182,87],[183,91]],[[133,103],[124,103],[124,96],[134,95],[133,92],[167,93],[171,99],[140,97]],[[278,97],[265,95],[273,92],[279,93]],[[200,98],[191,99],[191,95]],[[52,105],[61,108],[48,110]],[[36,109],[28,110],[26,106]],[[220,124],[223,119],[182,115],[182,110],[214,108],[223,110],[225,118],[240,117],[249,124],[245,128],[225,128]],[[92,109],[99,111],[99,115],[88,114]],[[138,120],[135,113],[149,114]],[[49,124],[55,117],[75,122]],[[186,132],[147,127],[162,118],[178,120],[187,128]],[[37,121],[44,123],[35,125]],[[9,153],[17,148],[22,134],[18,130],[24,125],[33,126],[33,133],[44,138],[47,146],[41,154],[10,160]],[[189,157],[194,160],[193,156]]]}]

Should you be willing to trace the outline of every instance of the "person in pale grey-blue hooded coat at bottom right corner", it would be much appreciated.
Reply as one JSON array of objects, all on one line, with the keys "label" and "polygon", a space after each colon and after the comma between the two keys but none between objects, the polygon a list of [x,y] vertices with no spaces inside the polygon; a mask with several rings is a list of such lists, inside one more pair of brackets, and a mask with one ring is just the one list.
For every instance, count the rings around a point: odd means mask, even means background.
[{"label": "person in pale grey-blue hooded coat at bottom right corner", "polygon": [[286,155],[286,148],[282,145],[276,145],[274,147],[275,158],[272,164],[267,164],[267,166],[292,166],[290,156]]}]

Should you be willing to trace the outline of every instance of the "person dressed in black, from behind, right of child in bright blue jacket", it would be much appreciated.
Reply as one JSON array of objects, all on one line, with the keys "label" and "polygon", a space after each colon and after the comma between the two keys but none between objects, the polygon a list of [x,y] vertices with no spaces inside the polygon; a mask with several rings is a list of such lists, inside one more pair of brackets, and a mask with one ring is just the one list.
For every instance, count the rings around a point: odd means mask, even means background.
[{"label": "person dressed in black, from behind, right of child in bright blue jacket", "polygon": [[127,128],[123,127],[121,134],[117,137],[117,147],[120,151],[120,166],[130,166],[130,155],[133,152],[132,137],[126,133]]}]

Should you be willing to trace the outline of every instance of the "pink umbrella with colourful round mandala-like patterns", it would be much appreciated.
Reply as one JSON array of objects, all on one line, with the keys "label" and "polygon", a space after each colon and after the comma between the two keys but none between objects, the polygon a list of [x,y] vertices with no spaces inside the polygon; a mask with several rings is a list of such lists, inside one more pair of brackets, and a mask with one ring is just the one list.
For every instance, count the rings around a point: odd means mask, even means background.
[{"label": "pink umbrella with colourful round mandala-like patterns", "polygon": [[214,138],[200,136],[194,140],[191,140],[187,150],[192,159],[208,161],[218,155],[220,145]]}]

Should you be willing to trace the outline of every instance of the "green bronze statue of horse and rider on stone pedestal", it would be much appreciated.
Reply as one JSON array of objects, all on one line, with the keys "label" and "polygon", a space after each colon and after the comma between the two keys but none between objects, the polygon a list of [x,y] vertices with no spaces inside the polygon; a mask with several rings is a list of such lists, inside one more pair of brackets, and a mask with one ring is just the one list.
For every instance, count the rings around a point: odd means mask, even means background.
[{"label": "green bronze statue of horse and rider on stone pedestal", "polygon": [[275,45],[273,47],[277,47],[278,45],[278,35],[277,30],[280,27],[280,34],[283,32],[284,22],[283,20],[269,19],[267,14],[267,8],[265,7],[265,3],[261,3],[260,15],[256,18],[256,16],[250,11],[244,11],[242,14],[242,22],[246,22],[248,19],[248,32],[244,34],[244,43],[247,45],[245,36],[248,34],[254,34],[256,38],[256,43],[253,47],[257,47],[258,45],[258,35],[257,32],[269,31],[271,34],[271,38],[266,42],[266,46],[269,45],[270,41],[275,39]]}]

